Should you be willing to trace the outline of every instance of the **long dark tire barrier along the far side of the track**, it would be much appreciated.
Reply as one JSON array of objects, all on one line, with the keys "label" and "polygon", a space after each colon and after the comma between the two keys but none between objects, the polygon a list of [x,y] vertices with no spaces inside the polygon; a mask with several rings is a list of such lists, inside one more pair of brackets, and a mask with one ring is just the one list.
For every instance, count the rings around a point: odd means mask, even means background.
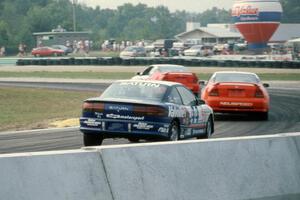
[{"label": "long dark tire barrier along the far side of the track", "polygon": [[178,64],[190,67],[258,67],[258,68],[291,68],[300,69],[300,61],[263,61],[263,60],[212,60],[191,58],[119,58],[119,57],[83,57],[83,58],[24,58],[18,59],[17,65],[151,65]]}]

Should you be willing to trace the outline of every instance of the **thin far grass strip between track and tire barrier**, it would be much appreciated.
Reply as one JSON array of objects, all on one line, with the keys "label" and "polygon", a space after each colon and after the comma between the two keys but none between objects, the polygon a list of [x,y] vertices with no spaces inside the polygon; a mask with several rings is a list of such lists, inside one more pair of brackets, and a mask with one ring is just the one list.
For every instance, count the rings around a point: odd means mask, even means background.
[{"label": "thin far grass strip between track and tire barrier", "polygon": [[[128,79],[134,76],[133,72],[8,72],[0,71],[0,77],[36,77],[36,78],[71,78],[71,79]],[[199,73],[200,80],[208,80],[210,73]],[[300,73],[258,73],[265,81],[300,81]]]}]

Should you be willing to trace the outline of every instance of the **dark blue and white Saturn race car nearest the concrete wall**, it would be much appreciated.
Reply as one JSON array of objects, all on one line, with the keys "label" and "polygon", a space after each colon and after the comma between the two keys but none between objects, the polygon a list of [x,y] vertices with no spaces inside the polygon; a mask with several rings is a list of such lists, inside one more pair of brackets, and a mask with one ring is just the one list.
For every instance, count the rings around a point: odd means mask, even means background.
[{"label": "dark blue and white Saturn race car nearest the concrete wall", "polygon": [[180,83],[123,80],[84,101],[80,130],[85,146],[115,137],[131,142],[208,138],[214,132],[214,114]]}]

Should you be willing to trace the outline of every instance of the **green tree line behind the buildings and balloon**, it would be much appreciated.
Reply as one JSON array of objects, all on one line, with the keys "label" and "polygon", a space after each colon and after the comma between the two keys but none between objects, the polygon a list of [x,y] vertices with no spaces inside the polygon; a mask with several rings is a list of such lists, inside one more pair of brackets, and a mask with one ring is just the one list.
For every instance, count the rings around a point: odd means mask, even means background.
[{"label": "green tree line behind the buildings and balloon", "polygon": [[[282,22],[300,23],[299,0],[281,0]],[[73,31],[73,4],[69,0],[1,0],[0,46],[16,51],[19,43],[35,46],[34,32],[49,32],[58,25]],[[202,13],[170,12],[167,7],[148,7],[130,3],[117,9],[101,9],[76,4],[77,31],[92,31],[92,40],[155,40],[172,38],[185,31],[187,21],[208,23],[231,22],[230,10],[211,8]]]}]

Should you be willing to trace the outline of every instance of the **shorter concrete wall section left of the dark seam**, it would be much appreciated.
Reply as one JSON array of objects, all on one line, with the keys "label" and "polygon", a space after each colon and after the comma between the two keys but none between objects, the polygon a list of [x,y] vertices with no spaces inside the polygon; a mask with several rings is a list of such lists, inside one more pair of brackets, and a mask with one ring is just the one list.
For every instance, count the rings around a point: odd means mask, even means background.
[{"label": "shorter concrete wall section left of the dark seam", "polygon": [[0,199],[112,199],[99,153],[49,152],[0,157]]}]

